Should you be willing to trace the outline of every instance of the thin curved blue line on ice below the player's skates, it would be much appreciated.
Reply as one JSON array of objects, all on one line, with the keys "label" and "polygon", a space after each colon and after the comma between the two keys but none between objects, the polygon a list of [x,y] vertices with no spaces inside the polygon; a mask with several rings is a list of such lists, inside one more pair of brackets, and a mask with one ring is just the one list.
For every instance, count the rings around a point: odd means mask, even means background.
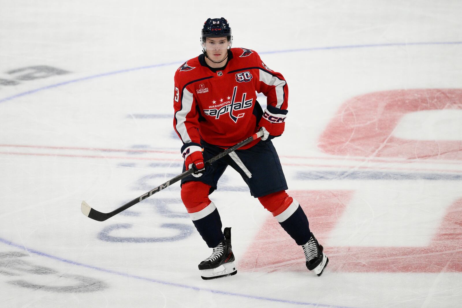
[{"label": "thin curved blue line on ice below the player's skates", "polygon": [[123,277],[127,277],[127,278],[134,278],[134,279],[138,279],[138,280],[144,280],[144,281],[148,281],[148,282],[152,282],[152,283],[156,283],[156,284],[164,284],[164,285],[167,285],[167,286],[173,286],[173,287],[177,287],[177,288],[190,289],[190,290],[195,290],[195,291],[207,291],[207,292],[220,294],[220,295],[238,296],[238,297],[244,297],[244,298],[249,298],[249,299],[263,300],[263,301],[269,301],[269,302],[281,302],[281,303],[294,304],[294,305],[316,306],[316,307],[332,307],[332,308],[351,308],[351,307],[346,307],[346,306],[334,306],[334,305],[326,305],[326,304],[319,304],[319,303],[289,301],[289,300],[278,299],[278,298],[271,298],[271,297],[264,297],[264,296],[253,296],[253,295],[247,295],[247,294],[241,294],[241,293],[226,292],[226,291],[207,289],[207,288],[199,288],[199,287],[190,286],[190,285],[187,285],[187,284],[177,284],[177,283],[172,283],[172,282],[168,282],[168,281],[162,281],[162,280],[153,279],[153,278],[147,278],[147,277],[142,277],[142,276],[137,276],[137,275],[130,275],[130,274],[127,274],[127,273],[124,273],[124,272],[117,272],[117,271],[105,269],[103,267],[91,266],[91,265],[88,265],[88,264],[75,262],[75,261],[72,261],[72,260],[67,260],[67,259],[64,259],[64,258],[56,257],[56,256],[51,255],[51,254],[43,253],[43,252],[35,250],[35,249],[27,248],[27,247],[25,247],[23,245],[19,245],[19,244],[7,241],[7,240],[5,240],[5,239],[3,239],[1,237],[0,237],[0,242],[4,243],[6,245],[12,246],[12,247],[16,247],[16,248],[25,250],[30,254],[36,254],[36,255],[39,255],[39,256],[42,256],[42,257],[46,257],[46,258],[49,258],[49,259],[52,259],[52,260],[68,263],[68,264],[71,264],[71,265],[82,266],[82,267],[86,267],[86,268],[96,270],[96,271],[99,271],[99,272],[106,272],[106,273],[109,273],[109,274],[114,274],[114,275],[123,276]]}]

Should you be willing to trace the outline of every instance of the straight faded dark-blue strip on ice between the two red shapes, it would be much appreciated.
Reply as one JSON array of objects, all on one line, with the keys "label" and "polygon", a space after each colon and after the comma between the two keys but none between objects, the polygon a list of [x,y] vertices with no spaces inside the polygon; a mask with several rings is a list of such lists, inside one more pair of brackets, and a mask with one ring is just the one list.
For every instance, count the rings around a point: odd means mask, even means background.
[{"label": "straight faded dark-blue strip on ice between the two red shapes", "polygon": [[298,180],[436,180],[460,181],[462,175],[440,173],[402,173],[383,171],[300,171],[295,176]]}]

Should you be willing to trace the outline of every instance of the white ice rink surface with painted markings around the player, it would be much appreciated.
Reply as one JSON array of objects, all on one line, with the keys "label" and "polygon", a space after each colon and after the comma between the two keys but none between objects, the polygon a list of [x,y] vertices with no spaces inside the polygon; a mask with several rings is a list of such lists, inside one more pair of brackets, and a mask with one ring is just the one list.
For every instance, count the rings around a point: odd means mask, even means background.
[{"label": "white ice rink surface with painted markings around the player", "polygon": [[[462,3],[0,0],[0,307],[462,307]],[[208,17],[287,79],[274,140],[330,263],[227,170],[235,276],[179,185],[173,75]],[[259,101],[264,105],[265,99]]]}]

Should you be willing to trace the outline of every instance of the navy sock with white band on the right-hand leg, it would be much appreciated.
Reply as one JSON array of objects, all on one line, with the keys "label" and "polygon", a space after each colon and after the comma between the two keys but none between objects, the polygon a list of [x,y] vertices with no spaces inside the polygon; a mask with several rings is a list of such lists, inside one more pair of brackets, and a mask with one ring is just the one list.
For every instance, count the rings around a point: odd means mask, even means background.
[{"label": "navy sock with white band on the right-hand leg", "polygon": [[[290,215],[291,212],[292,215]],[[288,215],[290,216],[287,217]],[[280,215],[275,216],[275,218],[278,219],[281,227],[284,228],[287,234],[295,240],[297,245],[304,245],[310,239],[311,231],[308,218],[297,201],[294,200],[286,211],[283,211]]]}]

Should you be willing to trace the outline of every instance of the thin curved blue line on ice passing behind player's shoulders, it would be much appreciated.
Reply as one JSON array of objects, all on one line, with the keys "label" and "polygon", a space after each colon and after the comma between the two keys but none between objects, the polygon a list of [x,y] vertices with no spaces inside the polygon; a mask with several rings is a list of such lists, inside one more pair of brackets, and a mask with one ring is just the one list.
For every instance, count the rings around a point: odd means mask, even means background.
[{"label": "thin curved blue line on ice passing behind player's shoulders", "polygon": [[[282,54],[282,53],[289,53],[289,52],[329,50],[329,49],[350,49],[350,48],[371,48],[371,47],[392,47],[392,46],[413,46],[413,45],[456,45],[456,44],[462,44],[462,42],[414,42],[414,43],[384,43],[384,44],[327,46],[327,47],[312,47],[312,48],[299,48],[299,49],[264,51],[264,52],[261,52],[260,54]],[[61,83],[58,83],[58,84],[49,85],[49,86],[46,86],[46,87],[42,87],[42,88],[38,88],[38,89],[34,89],[34,90],[22,92],[22,93],[18,93],[18,94],[15,94],[13,96],[10,96],[10,97],[5,97],[5,98],[0,99],[0,103],[6,102],[6,101],[9,101],[9,100],[18,98],[18,97],[23,97],[23,96],[26,96],[26,95],[29,95],[29,94],[33,94],[33,93],[36,93],[36,92],[40,92],[40,91],[43,91],[43,90],[49,90],[49,89],[60,87],[62,85],[69,85],[69,84],[73,84],[73,83],[80,82],[80,81],[86,81],[86,80],[95,79],[95,78],[99,78],[99,77],[105,77],[105,76],[109,76],[109,75],[121,74],[121,73],[125,73],[125,72],[139,71],[139,70],[144,70],[144,69],[149,69],[149,68],[156,68],[156,67],[160,67],[160,66],[169,66],[169,65],[173,65],[173,64],[182,64],[182,63],[184,63],[184,62],[175,61],[175,62],[170,62],[170,63],[162,63],[162,64],[154,64],[154,65],[149,65],[149,66],[134,67],[134,68],[128,68],[128,69],[124,69],[124,70],[118,70],[118,71],[113,71],[113,72],[106,72],[106,73],[102,73],[102,74],[97,74],[97,75],[91,75],[91,76],[84,77],[84,78],[73,79],[73,80],[61,82]]]}]

